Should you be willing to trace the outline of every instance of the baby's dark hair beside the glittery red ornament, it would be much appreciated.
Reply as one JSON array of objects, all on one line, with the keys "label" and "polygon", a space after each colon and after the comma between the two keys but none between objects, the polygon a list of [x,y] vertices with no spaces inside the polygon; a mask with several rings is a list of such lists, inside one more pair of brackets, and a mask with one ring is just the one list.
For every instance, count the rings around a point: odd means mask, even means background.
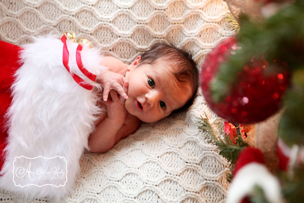
[{"label": "baby's dark hair beside the glittery red ornament", "polygon": [[198,88],[198,69],[192,59],[192,55],[187,53],[186,51],[183,51],[180,48],[174,47],[169,44],[160,43],[155,44],[149,51],[146,51],[141,54],[141,58],[138,65],[153,65],[157,62],[157,59],[161,58],[165,58],[166,60],[171,62],[171,72],[178,80],[178,82],[180,82],[181,85],[184,86],[184,89],[188,85],[190,85],[192,95],[191,98],[183,107],[178,110],[175,110],[174,112],[187,109],[192,104]]}]

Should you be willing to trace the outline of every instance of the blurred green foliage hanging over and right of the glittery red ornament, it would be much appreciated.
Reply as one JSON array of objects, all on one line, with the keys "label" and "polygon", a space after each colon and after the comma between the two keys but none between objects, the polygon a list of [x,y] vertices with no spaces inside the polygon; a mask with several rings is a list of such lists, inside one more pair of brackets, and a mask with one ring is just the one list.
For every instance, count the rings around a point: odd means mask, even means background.
[{"label": "blurred green foliage hanging over and right of the glittery red ornament", "polygon": [[[221,101],[231,93],[237,74],[253,57],[263,56],[272,61],[285,61],[291,75],[291,85],[283,95],[285,112],[280,123],[279,135],[292,145],[304,143],[304,0],[281,9],[269,19],[259,21],[239,16],[240,31],[236,34],[236,54],[219,67],[211,84],[214,101]],[[271,69],[272,68],[272,69]],[[277,66],[269,65],[274,72]]]}]

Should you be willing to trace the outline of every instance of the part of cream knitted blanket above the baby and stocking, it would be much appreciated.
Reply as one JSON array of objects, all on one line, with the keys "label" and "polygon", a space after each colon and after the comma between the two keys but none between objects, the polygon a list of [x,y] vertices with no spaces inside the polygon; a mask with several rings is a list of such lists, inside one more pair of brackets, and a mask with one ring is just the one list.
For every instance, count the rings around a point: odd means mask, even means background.
[{"label": "part of cream knitted blanket above the baby and stocking", "polygon": [[167,41],[204,55],[231,35],[222,0],[25,0],[0,2],[0,39],[16,45],[31,35],[72,30],[125,62]]}]

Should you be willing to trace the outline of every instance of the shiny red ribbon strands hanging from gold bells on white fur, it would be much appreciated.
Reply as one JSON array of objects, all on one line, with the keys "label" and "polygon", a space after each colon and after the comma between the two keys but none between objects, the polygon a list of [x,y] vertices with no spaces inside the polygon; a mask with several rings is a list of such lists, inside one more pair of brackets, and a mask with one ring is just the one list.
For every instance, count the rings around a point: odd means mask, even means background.
[{"label": "shiny red ribbon strands hanging from gold bells on white fur", "polygon": [[[73,79],[81,87],[83,87],[85,89],[88,89],[88,90],[91,90],[94,87],[93,85],[85,82],[84,79],[82,79],[78,75],[70,72],[70,68],[69,68],[69,51],[67,49],[67,42],[66,42],[67,41],[67,37],[65,37],[65,35],[63,35],[60,39],[63,42],[62,63],[64,65],[64,67],[67,69],[67,71],[70,73],[70,75],[73,77]],[[84,66],[82,65],[81,55],[80,55],[80,51],[81,50],[82,50],[82,46],[79,44],[78,47],[77,47],[77,49],[76,49],[76,62],[77,62],[78,68],[90,80],[95,81],[96,75],[92,74],[91,72],[88,72],[88,70],[85,69]]]}]

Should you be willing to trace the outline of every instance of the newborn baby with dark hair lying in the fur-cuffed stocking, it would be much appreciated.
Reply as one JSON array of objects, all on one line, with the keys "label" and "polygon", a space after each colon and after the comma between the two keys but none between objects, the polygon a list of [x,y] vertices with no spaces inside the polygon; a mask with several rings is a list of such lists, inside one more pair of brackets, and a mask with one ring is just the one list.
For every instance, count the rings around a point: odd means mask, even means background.
[{"label": "newborn baby with dark hair lying in the fur-cuffed stocking", "polygon": [[157,44],[127,65],[105,56],[98,81],[103,85],[100,115],[88,145],[91,152],[111,149],[134,133],[141,121],[152,123],[188,107],[197,91],[198,70],[191,55]]}]

